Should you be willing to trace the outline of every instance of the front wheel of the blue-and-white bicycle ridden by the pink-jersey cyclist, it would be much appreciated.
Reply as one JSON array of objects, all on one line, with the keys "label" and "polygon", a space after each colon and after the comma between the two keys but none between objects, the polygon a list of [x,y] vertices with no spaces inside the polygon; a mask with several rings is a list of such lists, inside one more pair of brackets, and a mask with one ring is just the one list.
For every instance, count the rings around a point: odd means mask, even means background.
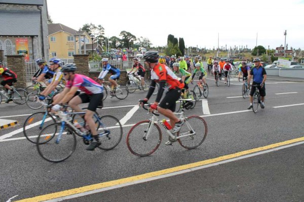
[{"label": "front wheel of the blue-and-white bicycle ridden by the pink-jersey cyclist", "polygon": [[[61,162],[75,151],[77,142],[73,130],[66,125],[61,129],[61,123],[55,123],[45,127],[38,136],[38,152],[47,161]],[[46,138],[50,140],[45,142]]]}]

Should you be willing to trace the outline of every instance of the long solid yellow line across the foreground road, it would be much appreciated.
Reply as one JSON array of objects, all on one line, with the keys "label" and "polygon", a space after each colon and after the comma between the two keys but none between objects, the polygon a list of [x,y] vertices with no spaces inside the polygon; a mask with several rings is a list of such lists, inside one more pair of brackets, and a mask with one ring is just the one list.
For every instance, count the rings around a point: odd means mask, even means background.
[{"label": "long solid yellow line across the foreground road", "polygon": [[241,152],[237,152],[237,153],[233,153],[233,154],[219,156],[219,157],[212,158],[212,159],[202,160],[202,161],[192,163],[192,164],[186,164],[186,165],[177,166],[177,167],[173,167],[173,168],[169,168],[169,169],[164,169],[164,170],[161,170],[161,171],[155,171],[155,172],[145,173],[145,174],[132,176],[132,177],[128,177],[128,178],[112,180],[112,181],[102,182],[102,183],[98,183],[98,184],[92,184],[92,185],[88,185],[88,186],[84,186],[84,187],[59,191],[59,192],[55,192],[55,193],[49,193],[49,194],[45,194],[45,195],[41,195],[41,196],[35,196],[35,197],[32,197],[32,198],[25,198],[25,199],[18,200],[18,201],[34,202],[34,201],[50,200],[50,199],[59,198],[59,197],[63,197],[63,196],[69,196],[69,195],[83,193],[83,192],[92,191],[92,190],[96,190],[96,189],[101,189],[101,188],[105,188],[105,187],[111,187],[111,186],[115,186],[115,185],[134,182],[134,181],[137,181],[137,180],[142,180],[142,179],[147,179],[147,178],[151,178],[151,177],[161,176],[161,175],[168,174],[168,173],[174,173],[174,172],[177,172],[177,171],[191,169],[191,168],[195,168],[195,167],[199,167],[199,166],[204,166],[204,165],[216,163],[216,162],[219,162],[219,161],[222,161],[222,160],[236,158],[236,157],[247,155],[247,154],[250,154],[250,153],[255,153],[255,152],[259,152],[259,151],[263,151],[263,150],[269,150],[269,149],[272,149],[272,148],[292,144],[292,143],[295,143],[295,142],[301,142],[301,141],[304,141],[304,137],[296,138],[296,139],[292,139],[292,140],[287,140],[287,141],[279,142],[279,143],[275,143],[275,144],[270,144],[270,145],[262,146],[262,147],[258,147],[258,148],[253,148],[253,149],[249,149],[249,150],[245,150],[245,151],[241,151]]}]

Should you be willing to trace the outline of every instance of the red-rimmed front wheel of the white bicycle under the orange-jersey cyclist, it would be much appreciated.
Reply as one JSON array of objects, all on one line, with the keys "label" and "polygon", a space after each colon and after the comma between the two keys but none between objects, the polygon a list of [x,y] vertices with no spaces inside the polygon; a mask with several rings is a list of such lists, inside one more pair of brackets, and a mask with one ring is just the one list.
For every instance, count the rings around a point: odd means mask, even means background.
[{"label": "red-rimmed front wheel of the white bicycle under the orange-jersey cyclist", "polygon": [[[149,130],[150,128],[150,130]],[[147,133],[149,132],[148,136]],[[162,132],[156,123],[143,120],[135,124],[127,135],[127,145],[131,153],[147,156],[155,152],[162,141]]]}]

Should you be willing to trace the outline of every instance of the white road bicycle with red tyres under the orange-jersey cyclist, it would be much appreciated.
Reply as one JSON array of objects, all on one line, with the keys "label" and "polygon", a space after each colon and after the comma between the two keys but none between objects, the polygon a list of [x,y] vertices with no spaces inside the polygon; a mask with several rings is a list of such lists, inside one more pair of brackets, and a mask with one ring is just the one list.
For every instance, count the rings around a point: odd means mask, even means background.
[{"label": "white road bicycle with red tyres under the orange-jersey cyclist", "polygon": [[[187,99],[183,99],[187,100]],[[142,100],[139,100],[142,102]],[[148,106],[146,108],[145,106]],[[149,110],[150,104],[142,105],[145,110]],[[172,145],[172,142],[178,141],[179,144],[187,149],[194,149],[200,146],[207,136],[207,123],[204,118],[193,115],[185,116],[184,109],[179,115],[179,119],[184,120],[184,124],[176,134],[172,134],[158,116],[160,114],[152,112],[149,120],[142,120],[135,124],[127,135],[127,146],[131,153],[137,156],[147,156],[154,153],[160,146],[162,141],[161,125],[168,134],[169,141],[166,145]]]}]

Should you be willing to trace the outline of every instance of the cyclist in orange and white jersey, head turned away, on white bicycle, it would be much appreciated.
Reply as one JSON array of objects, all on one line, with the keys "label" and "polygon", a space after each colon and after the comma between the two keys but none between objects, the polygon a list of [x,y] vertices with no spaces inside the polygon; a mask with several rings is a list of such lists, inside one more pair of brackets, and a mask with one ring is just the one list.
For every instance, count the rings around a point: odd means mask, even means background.
[{"label": "cyclist in orange and white jersey, head turned away, on white bicycle", "polygon": [[[150,106],[150,110],[158,110],[161,114],[168,117],[170,119],[170,125],[173,128],[171,132],[177,133],[180,130],[180,127],[183,125],[184,120],[179,120],[174,115],[173,111],[175,111],[176,101],[180,97],[181,89],[184,87],[184,84],[179,81],[178,77],[171,71],[169,67],[158,62],[159,55],[157,51],[146,52],[143,59],[145,59],[145,63],[151,69],[151,84],[142,104],[147,103],[155,90],[156,83],[159,83],[159,91],[154,104]],[[166,83],[169,91],[160,102]],[[170,143],[171,142],[169,141],[166,144],[169,145]]]}]

